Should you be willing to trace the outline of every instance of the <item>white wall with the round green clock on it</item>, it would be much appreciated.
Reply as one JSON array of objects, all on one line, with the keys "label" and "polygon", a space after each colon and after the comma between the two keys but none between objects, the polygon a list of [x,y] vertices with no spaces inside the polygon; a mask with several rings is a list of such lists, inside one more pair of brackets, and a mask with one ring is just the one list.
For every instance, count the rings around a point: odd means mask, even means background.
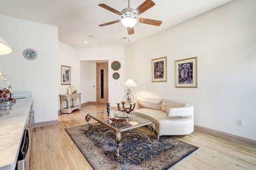
[{"label": "white wall with the round green clock on it", "polygon": [[[58,120],[58,27],[0,15],[0,36],[14,49],[0,56],[0,69],[12,86],[11,92],[32,91],[35,123]],[[38,57],[29,61],[22,55],[32,48]],[[18,102],[18,101],[16,101]]]}]

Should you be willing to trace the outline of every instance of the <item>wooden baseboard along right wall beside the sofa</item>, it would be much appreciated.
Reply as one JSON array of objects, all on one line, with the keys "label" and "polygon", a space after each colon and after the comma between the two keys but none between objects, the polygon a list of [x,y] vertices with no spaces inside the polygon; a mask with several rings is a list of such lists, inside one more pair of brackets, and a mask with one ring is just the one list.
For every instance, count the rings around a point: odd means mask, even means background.
[{"label": "wooden baseboard along right wall beside the sofa", "polygon": [[217,137],[221,137],[221,138],[224,138],[224,139],[228,139],[230,141],[242,143],[244,145],[249,145],[251,147],[256,147],[256,141],[251,140],[251,139],[246,139],[246,138],[239,137],[239,136],[236,136],[236,135],[230,135],[228,133],[215,131],[215,130],[212,130],[212,129],[208,129],[208,128],[200,127],[200,126],[196,126],[196,125],[194,125],[194,130],[200,131],[200,132],[203,132],[203,133],[207,133],[207,134],[210,134],[210,135],[214,135],[214,136],[217,136]]}]

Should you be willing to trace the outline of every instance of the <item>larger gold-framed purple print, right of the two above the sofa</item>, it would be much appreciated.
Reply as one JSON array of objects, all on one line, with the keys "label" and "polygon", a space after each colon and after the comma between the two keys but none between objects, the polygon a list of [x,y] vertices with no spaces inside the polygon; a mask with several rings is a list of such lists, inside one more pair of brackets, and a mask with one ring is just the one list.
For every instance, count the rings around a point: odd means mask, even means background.
[{"label": "larger gold-framed purple print, right of the two above the sofa", "polygon": [[175,87],[197,88],[197,57],[175,61]]}]

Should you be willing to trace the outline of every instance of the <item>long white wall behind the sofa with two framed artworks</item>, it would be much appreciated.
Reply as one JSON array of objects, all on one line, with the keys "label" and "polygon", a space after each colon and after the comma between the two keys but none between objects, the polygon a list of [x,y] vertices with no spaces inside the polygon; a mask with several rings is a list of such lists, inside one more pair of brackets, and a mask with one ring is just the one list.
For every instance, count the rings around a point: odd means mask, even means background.
[{"label": "long white wall behind the sofa with two framed artworks", "polygon": [[[195,125],[256,140],[255,6],[235,0],[125,47],[124,62],[136,64],[125,68],[135,96],[188,102]],[[151,82],[151,59],[164,56],[167,82]],[[174,63],[190,57],[198,57],[198,88],[175,88]]]}]

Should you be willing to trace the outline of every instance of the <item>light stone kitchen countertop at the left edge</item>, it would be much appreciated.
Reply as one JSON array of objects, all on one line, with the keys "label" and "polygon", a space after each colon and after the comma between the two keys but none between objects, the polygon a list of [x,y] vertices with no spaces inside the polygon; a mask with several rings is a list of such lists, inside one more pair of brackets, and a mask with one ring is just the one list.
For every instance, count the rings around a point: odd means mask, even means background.
[{"label": "light stone kitchen countertop at the left edge", "polygon": [[[24,97],[24,98],[22,98]],[[18,96],[12,106],[3,110],[0,104],[0,170],[14,170],[20,143],[30,110],[32,96]],[[9,112],[8,112],[9,111]]]}]

